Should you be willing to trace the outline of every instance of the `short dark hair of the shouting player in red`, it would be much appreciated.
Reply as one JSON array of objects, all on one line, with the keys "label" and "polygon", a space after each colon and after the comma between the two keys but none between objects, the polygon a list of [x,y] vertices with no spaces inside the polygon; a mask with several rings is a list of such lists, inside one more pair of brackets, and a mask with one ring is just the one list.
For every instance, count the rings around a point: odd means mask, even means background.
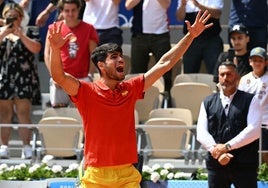
[{"label": "short dark hair of the shouting player in red", "polygon": [[123,53],[122,48],[117,45],[116,43],[106,43],[102,44],[101,46],[98,46],[94,49],[94,51],[91,54],[91,60],[94,63],[94,65],[99,69],[98,62],[105,62],[107,56],[109,53],[113,52],[119,52]]}]

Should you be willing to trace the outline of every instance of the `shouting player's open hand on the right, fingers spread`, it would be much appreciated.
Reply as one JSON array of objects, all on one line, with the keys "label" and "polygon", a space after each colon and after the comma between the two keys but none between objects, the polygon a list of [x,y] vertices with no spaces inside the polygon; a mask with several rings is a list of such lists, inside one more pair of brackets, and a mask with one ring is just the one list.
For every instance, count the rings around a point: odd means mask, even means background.
[{"label": "shouting player's open hand on the right, fingers spread", "polygon": [[208,19],[210,18],[210,14],[208,13],[208,11],[206,10],[202,15],[201,15],[201,11],[198,12],[196,18],[195,18],[195,22],[193,25],[190,24],[190,22],[188,20],[185,21],[186,25],[187,25],[187,29],[190,33],[190,35],[195,38],[198,35],[200,35],[205,29],[211,27],[213,25],[213,23],[210,24],[206,24],[206,22],[208,21]]}]

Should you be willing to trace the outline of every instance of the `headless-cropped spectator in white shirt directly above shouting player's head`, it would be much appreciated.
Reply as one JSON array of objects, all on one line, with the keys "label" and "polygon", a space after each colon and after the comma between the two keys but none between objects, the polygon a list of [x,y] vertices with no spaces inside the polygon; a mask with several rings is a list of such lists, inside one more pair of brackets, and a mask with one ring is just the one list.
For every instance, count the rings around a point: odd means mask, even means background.
[{"label": "headless-cropped spectator in white shirt directly above shouting player's head", "polygon": [[123,43],[119,28],[119,4],[121,0],[85,0],[83,21],[92,24],[98,32],[99,45]]}]

